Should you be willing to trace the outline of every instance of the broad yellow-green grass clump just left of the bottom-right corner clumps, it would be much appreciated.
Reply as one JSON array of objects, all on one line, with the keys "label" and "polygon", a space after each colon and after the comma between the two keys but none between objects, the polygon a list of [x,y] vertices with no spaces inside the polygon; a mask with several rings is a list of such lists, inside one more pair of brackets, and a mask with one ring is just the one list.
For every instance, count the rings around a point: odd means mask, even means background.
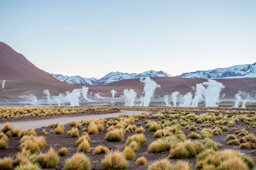
[{"label": "broad yellow-green grass clump just left of the bottom-right corner clumps", "polygon": [[191,142],[190,140],[178,143],[174,149],[170,150],[169,159],[188,159],[194,158],[204,149],[203,144]]}]

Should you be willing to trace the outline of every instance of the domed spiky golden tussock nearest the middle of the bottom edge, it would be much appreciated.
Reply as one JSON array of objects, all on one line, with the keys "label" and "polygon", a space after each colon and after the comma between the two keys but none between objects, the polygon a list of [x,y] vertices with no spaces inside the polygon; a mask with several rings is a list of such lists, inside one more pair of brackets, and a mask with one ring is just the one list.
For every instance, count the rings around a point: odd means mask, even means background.
[{"label": "domed spiky golden tussock nearest the middle of the bottom edge", "polygon": [[128,167],[128,162],[121,152],[111,151],[105,155],[102,167],[104,169],[125,169]]}]

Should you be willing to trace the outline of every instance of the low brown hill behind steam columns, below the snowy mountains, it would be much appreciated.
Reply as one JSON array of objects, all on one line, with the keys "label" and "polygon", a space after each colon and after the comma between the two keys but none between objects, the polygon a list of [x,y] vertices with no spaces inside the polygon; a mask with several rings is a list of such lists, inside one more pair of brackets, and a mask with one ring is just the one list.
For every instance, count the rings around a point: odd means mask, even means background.
[{"label": "low brown hill behind steam columns, below the snowy mountains", "polygon": [[[191,87],[195,87],[197,83],[202,83],[207,81],[206,79],[189,79],[181,77],[155,77],[152,78],[161,88],[156,89],[155,95],[164,96],[165,94],[171,94],[174,91],[179,91],[185,94],[192,91]],[[225,89],[222,94],[225,93],[225,98],[234,98],[238,90],[243,90],[247,92],[256,92],[256,79],[216,79],[217,81],[224,84]],[[116,89],[117,96],[123,93],[124,89],[134,89],[137,93],[143,91],[143,84],[141,84],[140,79],[128,79],[120,80],[113,83],[109,83],[100,88],[91,88],[94,91],[100,91],[102,95],[111,96],[110,91]]]}]

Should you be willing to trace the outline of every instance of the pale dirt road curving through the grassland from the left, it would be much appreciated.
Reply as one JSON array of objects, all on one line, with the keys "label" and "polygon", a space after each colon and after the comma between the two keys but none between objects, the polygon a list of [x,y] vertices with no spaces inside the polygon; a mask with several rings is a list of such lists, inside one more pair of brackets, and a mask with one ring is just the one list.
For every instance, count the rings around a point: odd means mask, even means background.
[{"label": "pale dirt road curving through the grassland from the left", "polygon": [[[93,119],[98,119],[98,118],[112,118],[112,117],[117,117],[120,114],[125,114],[125,115],[134,115],[134,114],[139,114],[139,113],[150,113],[149,111],[128,111],[128,110],[121,110],[121,112],[118,113],[109,113],[109,114],[97,114],[97,115],[83,115],[83,116],[73,116],[73,117],[60,117],[60,118],[52,118],[52,119],[45,119],[45,120],[29,120],[29,121],[17,121],[17,122],[11,122],[12,126],[18,127],[19,129],[36,129],[36,128],[41,128],[48,126],[51,123],[63,123],[67,124],[72,120],[75,121],[81,121],[81,119],[85,120],[93,120]],[[0,123],[0,129],[3,128],[5,123]]]}]

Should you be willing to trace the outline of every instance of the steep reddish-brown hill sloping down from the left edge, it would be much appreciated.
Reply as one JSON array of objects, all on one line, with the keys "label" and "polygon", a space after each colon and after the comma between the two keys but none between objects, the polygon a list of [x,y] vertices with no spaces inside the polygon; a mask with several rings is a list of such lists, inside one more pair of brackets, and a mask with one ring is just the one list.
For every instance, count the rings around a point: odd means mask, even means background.
[{"label": "steep reddish-brown hill sloping down from the left edge", "polygon": [[57,95],[78,87],[56,80],[34,66],[22,54],[0,42],[0,82],[2,80],[6,80],[6,86],[4,89],[0,88],[1,101],[17,100],[17,96],[30,93],[40,98],[44,89]]}]

